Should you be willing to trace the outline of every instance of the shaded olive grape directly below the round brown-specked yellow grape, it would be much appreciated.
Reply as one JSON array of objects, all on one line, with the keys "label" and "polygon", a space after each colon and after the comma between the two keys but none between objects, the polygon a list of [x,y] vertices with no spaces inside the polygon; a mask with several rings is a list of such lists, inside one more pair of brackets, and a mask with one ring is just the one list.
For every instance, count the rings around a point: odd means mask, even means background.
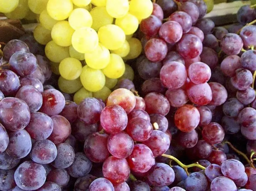
[{"label": "shaded olive grape directly below the round brown-specked yellow grape", "polygon": [[61,91],[69,94],[75,93],[83,87],[80,78],[74,80],[67,80],[61,76],[58,80],[58,86]]}]

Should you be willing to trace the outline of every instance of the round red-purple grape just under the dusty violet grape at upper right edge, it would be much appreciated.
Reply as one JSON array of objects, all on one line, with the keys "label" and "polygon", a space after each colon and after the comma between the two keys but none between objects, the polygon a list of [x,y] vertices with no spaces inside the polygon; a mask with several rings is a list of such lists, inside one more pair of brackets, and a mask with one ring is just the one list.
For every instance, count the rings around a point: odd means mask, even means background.
[{"label": "round red-purple grape just under the dusty violet grape at upper right edge", "polygon": [[245,90],[253,83],[252,73],[247,69],[237,69],[231,83],[236,89]]}]

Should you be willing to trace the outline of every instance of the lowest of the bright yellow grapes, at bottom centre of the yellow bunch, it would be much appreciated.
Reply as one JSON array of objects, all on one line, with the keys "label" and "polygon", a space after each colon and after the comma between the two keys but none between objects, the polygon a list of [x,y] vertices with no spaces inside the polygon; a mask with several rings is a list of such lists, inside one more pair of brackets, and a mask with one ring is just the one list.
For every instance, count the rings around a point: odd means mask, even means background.
[{"label": "lowest of the bright yellow grapes, at bottom centre of the yellow bunch", "polygon": [[87,65],[83,67],[80,80],[84,88],[92,92],[99,91],[103,88],[106,81],[105,75],[101,70],[90,68]]}]

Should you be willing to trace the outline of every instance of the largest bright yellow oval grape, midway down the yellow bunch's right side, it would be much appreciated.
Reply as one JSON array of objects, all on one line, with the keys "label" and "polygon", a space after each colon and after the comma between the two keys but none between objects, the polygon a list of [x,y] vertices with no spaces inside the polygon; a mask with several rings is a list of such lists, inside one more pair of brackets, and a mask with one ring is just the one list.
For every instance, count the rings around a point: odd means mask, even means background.
[{"label": "largest bright yellow oval grape, midway down the yellow bunch's right side", "polygon": [[110,50],[123,46],[125,42],[124,31],[117,25],[105,25],[98,30],[99,42]]}]

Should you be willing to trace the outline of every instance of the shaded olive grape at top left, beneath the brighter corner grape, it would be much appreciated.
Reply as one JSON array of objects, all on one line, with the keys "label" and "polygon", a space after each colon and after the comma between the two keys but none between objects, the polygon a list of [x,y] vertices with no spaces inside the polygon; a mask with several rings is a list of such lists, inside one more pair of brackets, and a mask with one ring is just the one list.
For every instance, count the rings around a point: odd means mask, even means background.
[{"label": "shaded olive grape at top left, beneath the brighter corner grape", "polygon": [[28,11],[29,8],[27,5],[27,0],[20,0],[16,9],[10,13],[5,13],[5,16],[10,19],[23,19],[27,15]]}]

